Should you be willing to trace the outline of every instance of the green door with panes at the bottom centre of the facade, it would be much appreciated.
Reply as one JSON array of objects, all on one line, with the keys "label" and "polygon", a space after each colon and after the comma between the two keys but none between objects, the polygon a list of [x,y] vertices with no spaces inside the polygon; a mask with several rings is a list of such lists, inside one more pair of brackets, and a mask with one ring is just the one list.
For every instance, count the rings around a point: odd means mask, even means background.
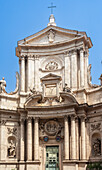
[{"label": "green door with panes at the bottom centre of the facade", "polygon": [[59,146],[46,147],[46,170],[59,170]]}]

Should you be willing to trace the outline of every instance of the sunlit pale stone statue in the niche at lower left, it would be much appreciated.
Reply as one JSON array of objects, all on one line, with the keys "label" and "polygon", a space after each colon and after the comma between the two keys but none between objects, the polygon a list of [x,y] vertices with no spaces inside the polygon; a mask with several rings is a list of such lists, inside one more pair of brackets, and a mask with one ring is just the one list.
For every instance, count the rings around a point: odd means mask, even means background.
[{"label": "sunlit pale stone statue in the niche at lower left", "polygon": [[9,140],[8,156],[12,158],[16,157],[16,143],[13,139]]}]

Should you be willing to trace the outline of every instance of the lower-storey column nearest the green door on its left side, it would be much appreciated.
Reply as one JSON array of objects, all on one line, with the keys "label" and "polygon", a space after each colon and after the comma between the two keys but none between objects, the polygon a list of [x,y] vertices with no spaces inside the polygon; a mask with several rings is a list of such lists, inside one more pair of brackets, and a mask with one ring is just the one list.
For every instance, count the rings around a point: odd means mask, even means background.
[{"label": "lower-storey column nearest the green door on its left side", "polygon": [[39,160],[39,119],[34,120],[34,160]]}]

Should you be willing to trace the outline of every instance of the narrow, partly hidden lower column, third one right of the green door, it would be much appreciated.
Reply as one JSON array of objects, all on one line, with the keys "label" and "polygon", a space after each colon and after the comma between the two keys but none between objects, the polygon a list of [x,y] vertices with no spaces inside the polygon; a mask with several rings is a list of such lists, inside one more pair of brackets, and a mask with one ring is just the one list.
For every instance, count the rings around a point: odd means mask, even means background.
[{"label": "narrow, partly hidden lower column, third one right of the green door", "polygon": [[79,121],[78,118],[75,119],[75,129],[76,129],[76,159],[79,159]]}]

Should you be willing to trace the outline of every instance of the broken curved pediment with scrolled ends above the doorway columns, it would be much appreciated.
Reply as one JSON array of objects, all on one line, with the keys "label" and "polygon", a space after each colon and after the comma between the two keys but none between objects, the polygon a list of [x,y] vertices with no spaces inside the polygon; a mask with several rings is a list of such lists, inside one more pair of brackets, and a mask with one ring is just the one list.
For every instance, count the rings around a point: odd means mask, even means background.
[{"label": "broken curved pediment with scrolled ends above the doorway columns", "polygon": [[45,97],[42,94],[32,94],[25,102],[25,108],[45,107],[45,106],[64,106],[78,104],[75,97],[69,92],[61,92],[59,97]]}]

